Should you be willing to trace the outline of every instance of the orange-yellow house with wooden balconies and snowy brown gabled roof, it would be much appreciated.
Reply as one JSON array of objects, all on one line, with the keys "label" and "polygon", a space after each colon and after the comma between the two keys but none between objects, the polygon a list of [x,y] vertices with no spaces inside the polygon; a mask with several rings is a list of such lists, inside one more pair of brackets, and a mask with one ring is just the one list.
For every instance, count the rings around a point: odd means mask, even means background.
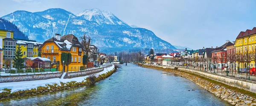
[{"label": "orange-yellow house with wooden balconies and snowy brown gabled roof", "polygon": [[[67,72],[68,70],[79,70],[83,66],[83,45],[73,34],[62,37],[60,34],[55,34],[55,37],[45,41],[38,50],[41,51],[41,57],[50,59],[52,67],[56,67],[58,70]],[[64,65],[64,69],[61,53],[71,53],[71,63]]]}]

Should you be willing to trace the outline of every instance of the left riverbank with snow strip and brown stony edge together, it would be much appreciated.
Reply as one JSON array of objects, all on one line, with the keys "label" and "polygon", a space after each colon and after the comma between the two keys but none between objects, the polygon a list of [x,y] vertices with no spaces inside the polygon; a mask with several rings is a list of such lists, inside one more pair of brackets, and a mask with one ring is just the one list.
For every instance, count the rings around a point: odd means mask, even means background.
[{"label": "left riverbank with snow strip and brown stony edge together", "polygon": [[[67,79],[53,78],[53,79],[38,80],[38,81],[24,81],[26,83],[23,83],[22,81],[11,82],[11,83],[1,83],[0,99],[2,100],[7,98],[42,95],[48,92],[56,92],[56,91],[76,88],[80,86],[87,86],[92,83],[101,81],[105,78],[108,78],[110,75],[115,73],[115,71],[116,71],[116,65],[112,65],[111,67],[104,68],[102,72],[86,75],[82,77],[76,77],[76,78],[67,78]],[[39,83],[39,81],[46,82],[48,84],[36,86],[34,83]],[[17,86],[17,84],[23,84],[23,86]]]}]

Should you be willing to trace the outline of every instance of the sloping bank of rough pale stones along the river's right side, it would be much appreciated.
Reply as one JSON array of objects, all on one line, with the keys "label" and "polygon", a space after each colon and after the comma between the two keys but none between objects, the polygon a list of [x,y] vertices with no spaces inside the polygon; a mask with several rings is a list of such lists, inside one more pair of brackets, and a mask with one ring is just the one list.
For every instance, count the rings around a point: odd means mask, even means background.
[{"label": "sloping bank of rough pale stones along the river's right side", "polygon": [[216,95],[217,97],[229,102],[232,105],[256,106],[255,98],[252,98],[248,95],[244,95],[240,92],[235,92],[231,89],[227,89],[224,86],[214,84],[210,81],[199,78],[198,76],[191,75],[189,73],[184,73],[182,71],[170,70],[169,67],[158,67],[158,66],[154,67],[154,66],[148,66],[148,65],[143,65],[143,67],[153,68],[153,69],[157,69],[157,70],[163,70],[163,71],[167,71],[170,73],[175,73],[177,75],[180,75],[184,78],[189,79],[190,81],[194,82],[195,84],[198,84],[199,86],[203,87],[204,89],[207,89],[209,92],[211,92],[214,95]]}]

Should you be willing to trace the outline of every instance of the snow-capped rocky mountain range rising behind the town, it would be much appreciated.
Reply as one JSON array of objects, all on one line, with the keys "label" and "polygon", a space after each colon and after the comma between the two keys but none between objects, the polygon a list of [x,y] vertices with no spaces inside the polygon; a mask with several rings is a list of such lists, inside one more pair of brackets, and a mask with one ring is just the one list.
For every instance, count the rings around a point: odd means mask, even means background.
[{"label": "snow-capped rocky mountain range rising behind the town", "polygon": [[[169,42],[158,38],[145,28],[132,28],[110,11],[86,9],[74,15],[61,8],[41,12],[15,11],[2,17],[17,25],[29,39],[44,42],[55,33],[84,33],[91,36],[92,43],[102,50],[116,51],[132,48],[176,49]],[[104,52],[104,51],[102,51]]]}]

